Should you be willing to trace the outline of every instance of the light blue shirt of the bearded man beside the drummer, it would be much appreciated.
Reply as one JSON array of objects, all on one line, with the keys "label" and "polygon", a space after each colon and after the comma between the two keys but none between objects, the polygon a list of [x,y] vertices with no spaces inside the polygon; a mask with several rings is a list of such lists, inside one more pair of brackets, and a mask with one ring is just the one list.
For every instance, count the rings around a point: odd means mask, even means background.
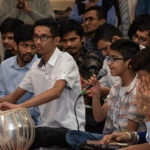
[{"label": "light blue shirt of the bearded man beside the drummer", "polygon": [[[31,62],[24,67],[19,67],[17,64],[17,56],[10,57],[4,60],[0,66],[0,97],[13,93],[18,87],[22,79],[25,77],[32,64],[38,60],[37,56],[34,56]],[[27,92],[16,103],[22,103],[32,98],[34,95],[31,92]],[[29,112],[35,121],[35,125],[40,124],[40,112],[38,107],[29,108]]]}]

